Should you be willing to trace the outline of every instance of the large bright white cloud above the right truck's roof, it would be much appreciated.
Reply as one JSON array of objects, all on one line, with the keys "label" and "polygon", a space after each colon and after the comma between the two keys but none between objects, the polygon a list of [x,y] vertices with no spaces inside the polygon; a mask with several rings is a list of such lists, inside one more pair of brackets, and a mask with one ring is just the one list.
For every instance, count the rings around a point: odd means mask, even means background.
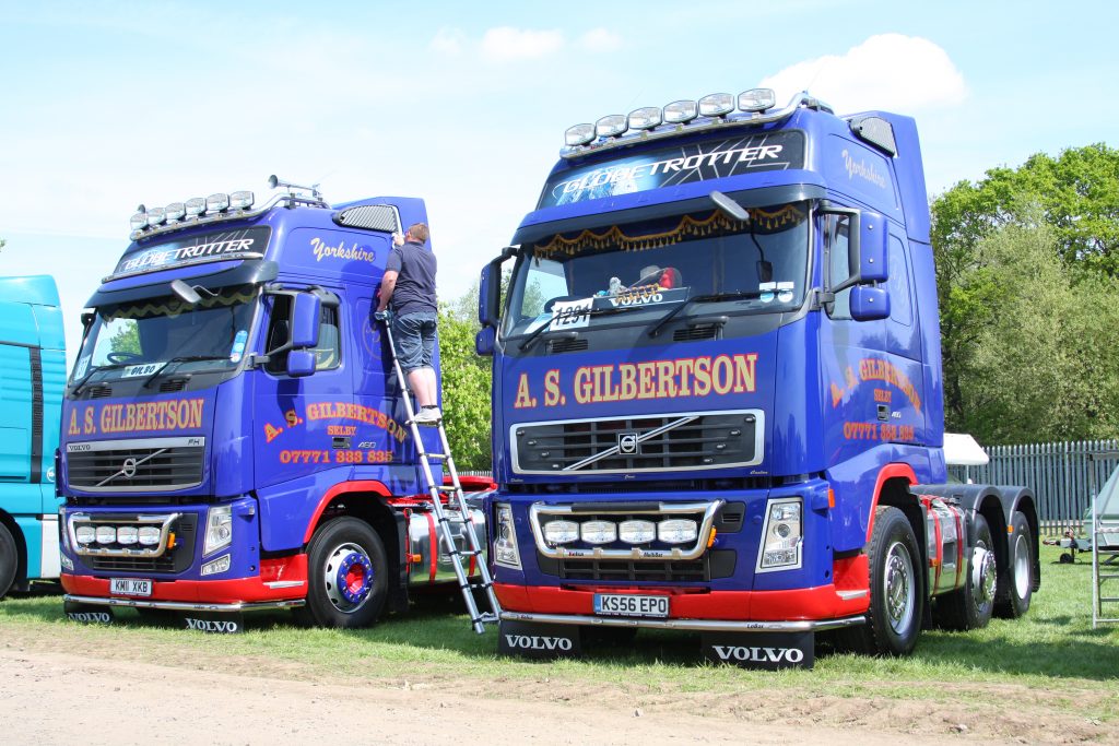
[{"label": "large bright white cloud above the right truck's roof", "polygon": [[956,106],[967,95],[963,76],[948,53],[928,39],[901,34],[872,36],[844,55],[797,63],[761,86],[777,91],[779,104],[808,88],[840,113],[912,113]]}]

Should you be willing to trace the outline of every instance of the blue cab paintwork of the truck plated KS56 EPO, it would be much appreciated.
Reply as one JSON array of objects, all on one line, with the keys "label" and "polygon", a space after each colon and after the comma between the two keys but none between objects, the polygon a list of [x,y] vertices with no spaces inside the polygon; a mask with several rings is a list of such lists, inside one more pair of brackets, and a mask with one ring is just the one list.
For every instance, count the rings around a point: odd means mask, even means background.
[{"label": "blue cab paintwork of the truck plated KS56 EPO", "polygon": [[[758,190],[770,190],[772,193],[773,189],[782,187],[822,187],[826,198],[836,206],[872,210],[886,218],[890,278],[881,286],[886,290],[892,311],[888,319],[878,321],[833,319],[825,311],[811,306],[809,294],[801,311],[789,314],[781,324],[775,324],[775,329],[735,339],[669,342],[662,347],[565,352],[558,356],[532,351],[523,355],[518,351],[517,340],[506,346],[499,339],[493,358],[496,406],[492,438],[495,473],[500,489],[491,495],[490,502],[513,504],[524,572],[499,566],[496,568],[498,582],[530,586],[555,586],[560,583],[556,577],[542,574],[536,566],[535,542],[527,519],[527,507],[533,502],[566,504],[619,498],[627,501],[723,498],[747,503],[742,531],[717,538],[718,546],[734,548],[739,553],[736,569],[733,577],[700,585],[726,591],[818,586],[830,583],[835,551],[864,546],[875,498],[875,481],[883,466],[904,464],[922,483],[946,480],[941,448],[943,405],[935,275],[916,128],[909,117],[881,112],[873,114],[893,125],[897,155],[891,158],[861,141],[844,119],[801,108],[782,122],[737,132],[743,135],[779,130],[803,132],[807,148],[802,169],[711,178],[558,205],[547,191],[542,195],[542,207],[525,217],[511,243],[526,244],[557,232],[571,236],[584,228],[602,228],[633,220],[638,226],[632,233],[639,234],[642,219],[712,210],[714,206],[707,197],[712,190],[749,202],[751,193]],[[715,143],[727,136],[726,131],[720,131],[686,134],[678,141],[680,144]],[[634,142],[630,148],[561,161],[553,169],[548,183],[584,174],[592,170],[589,164],[605,167],[612,161],[626,159],[638,162],[642,152],[656,148],[664,148],[664,141],[648,145]],[[822,287],[824,245],[818,216],[810,235],[809,286]],[[725,395],[713,391],[703,397],[576,402],[573,381],[577,370],[587,366],[735,353],[758,355],[755,390]],[[549,370],[558,371],[563,398],[553,398],[547,406],[544,376]],[[525,375],[535,406],[518,408],[518,385]],[[888,404],[886,424],[894,426],[894,431],[880,429],[876,408],[883,398]],[[513,470],[510,431],[517,424],[739,408],[755,408],[764,413],[764,457],[756,466],[624,475],[558,472],[533,475]],[[862,428],[861,423],[864,424]],[[861,434],[868,435],[871,426],[874,438],[861,440]],[[642,482],[653,480],[722,478],[753,478],[760,487],[718,492],[705,492],[698,485],[695,491],[640,490]],[[618,495],[601,490],[618,482],[630,484],[631,491]],[[565,489],[548,492],[543,487],[532,488],[547,484],[563,484]],[[830,510],[827,509],[829,487],[835,490],[836,497],[836,507]],[[760,519],[767,501],[789,495],[805,499],[807,538],[803,567],[755,574],[762,530]],[[580,582],[564,583],[577,585]],[[632,587],[633,583],[623,585]]]}]

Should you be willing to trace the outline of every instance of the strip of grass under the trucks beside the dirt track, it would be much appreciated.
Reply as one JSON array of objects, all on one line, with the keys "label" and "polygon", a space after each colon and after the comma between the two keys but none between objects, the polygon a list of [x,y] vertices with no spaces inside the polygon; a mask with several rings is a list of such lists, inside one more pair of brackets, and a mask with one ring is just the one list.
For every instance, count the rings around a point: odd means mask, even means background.
[{"label": "strip of grass under the trucks beside the dirt track", "polygon": [[17,597],[0,603],[0,644],[304,679],[357,677],[386,686],[469,679],[495,693],[518,682],[552,681],[637,697],[783,690],[798,698],[920,699],[969,708],[1005,703],[1013,690],[1019,699],[1036,698],[1043,710],[1119,720],[1119,625],[1091,629],[1087,560],[1061,565],[1056,550],[1042,553],[1042,588],[1024,618],[994,620],[969,633],[927,630],[904,659],[819,651],[810,671],[709,665],[699,659],[697,636],[660,631],[642,631],[632,648],[591,649],[581,660],[502,659],[495,654],[495,632],[473,634],[461,606],[441,597],[368,630],[301,629],[276,613],[246,617],[241,635],[151,626],[131,611],[119,612],[121,623],[112,627],[79,625],[63,617],[57,595]]}]

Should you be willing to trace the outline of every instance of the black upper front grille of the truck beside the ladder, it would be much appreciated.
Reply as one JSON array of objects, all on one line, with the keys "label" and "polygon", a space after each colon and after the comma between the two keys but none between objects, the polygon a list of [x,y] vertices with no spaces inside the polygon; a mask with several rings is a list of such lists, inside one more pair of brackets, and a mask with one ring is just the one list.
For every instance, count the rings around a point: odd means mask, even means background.
[{"label": "black upper front grille of the truck beside the ladder", "polygon": [[102,441],[67,446],[69,485],[88,492],[181,490],[203,481],[204,437]]}]

